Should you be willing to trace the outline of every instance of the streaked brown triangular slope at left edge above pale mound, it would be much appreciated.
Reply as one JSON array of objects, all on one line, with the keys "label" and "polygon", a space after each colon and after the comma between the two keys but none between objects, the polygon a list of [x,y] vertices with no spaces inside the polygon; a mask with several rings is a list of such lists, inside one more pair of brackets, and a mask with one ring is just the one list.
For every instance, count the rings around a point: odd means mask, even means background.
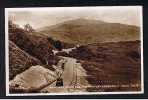
[{"label": "streaked brown triangular slope at left edge above pale mound", "polygon": [[25,71],[30,66],[41,65],[41,61],[21,50],[12,41],[9,41],[9,79]]}]

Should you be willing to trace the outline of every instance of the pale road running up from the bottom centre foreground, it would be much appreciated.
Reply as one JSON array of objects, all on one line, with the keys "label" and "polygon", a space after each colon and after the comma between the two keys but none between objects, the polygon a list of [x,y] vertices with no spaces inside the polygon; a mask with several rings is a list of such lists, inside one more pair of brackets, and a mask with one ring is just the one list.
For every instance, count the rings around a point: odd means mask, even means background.
[{"label": "pale road running up from the bottom centre foreground", "polygon": [[43,91],[51,93],[55,92],[82,92],[86,91],[86,86],[89,85],[85,79],[86,72],[77,60],[70,57],[62,57],[66,60],[62,74],[63,86],[56,87],[56,82],[44,88]]}]

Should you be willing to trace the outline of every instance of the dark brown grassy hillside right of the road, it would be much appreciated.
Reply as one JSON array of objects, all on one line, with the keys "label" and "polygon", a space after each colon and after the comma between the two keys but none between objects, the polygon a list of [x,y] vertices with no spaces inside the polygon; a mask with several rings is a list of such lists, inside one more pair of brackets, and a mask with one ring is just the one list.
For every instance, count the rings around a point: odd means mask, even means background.
[{"label": "dark brown grassy hillside right of the road", "polygon": [[[86,79],[93,86],[117,85],[116,88],[98,88],[100,91],[140,90],[141,55],[139,41],[108,42],[80,46],[69,54],[57,55],[76,58],[87,71]],[[121,85],[137,84],[137,87]],[[88,88],[96,91],[97,88]],[[98,91],[97,89],[97,91]]]}]

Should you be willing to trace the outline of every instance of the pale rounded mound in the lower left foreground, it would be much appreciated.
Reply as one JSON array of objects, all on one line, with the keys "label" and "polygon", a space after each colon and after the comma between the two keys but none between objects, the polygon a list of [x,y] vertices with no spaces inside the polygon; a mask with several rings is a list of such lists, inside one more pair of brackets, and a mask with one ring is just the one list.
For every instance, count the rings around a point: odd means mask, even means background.
[{"label": "pale rounded mound in the lower left foreground", "polygon": [[56,80],[56,74],[43,66],[31,66],[10,81],[11,93],[39,92]]}]

